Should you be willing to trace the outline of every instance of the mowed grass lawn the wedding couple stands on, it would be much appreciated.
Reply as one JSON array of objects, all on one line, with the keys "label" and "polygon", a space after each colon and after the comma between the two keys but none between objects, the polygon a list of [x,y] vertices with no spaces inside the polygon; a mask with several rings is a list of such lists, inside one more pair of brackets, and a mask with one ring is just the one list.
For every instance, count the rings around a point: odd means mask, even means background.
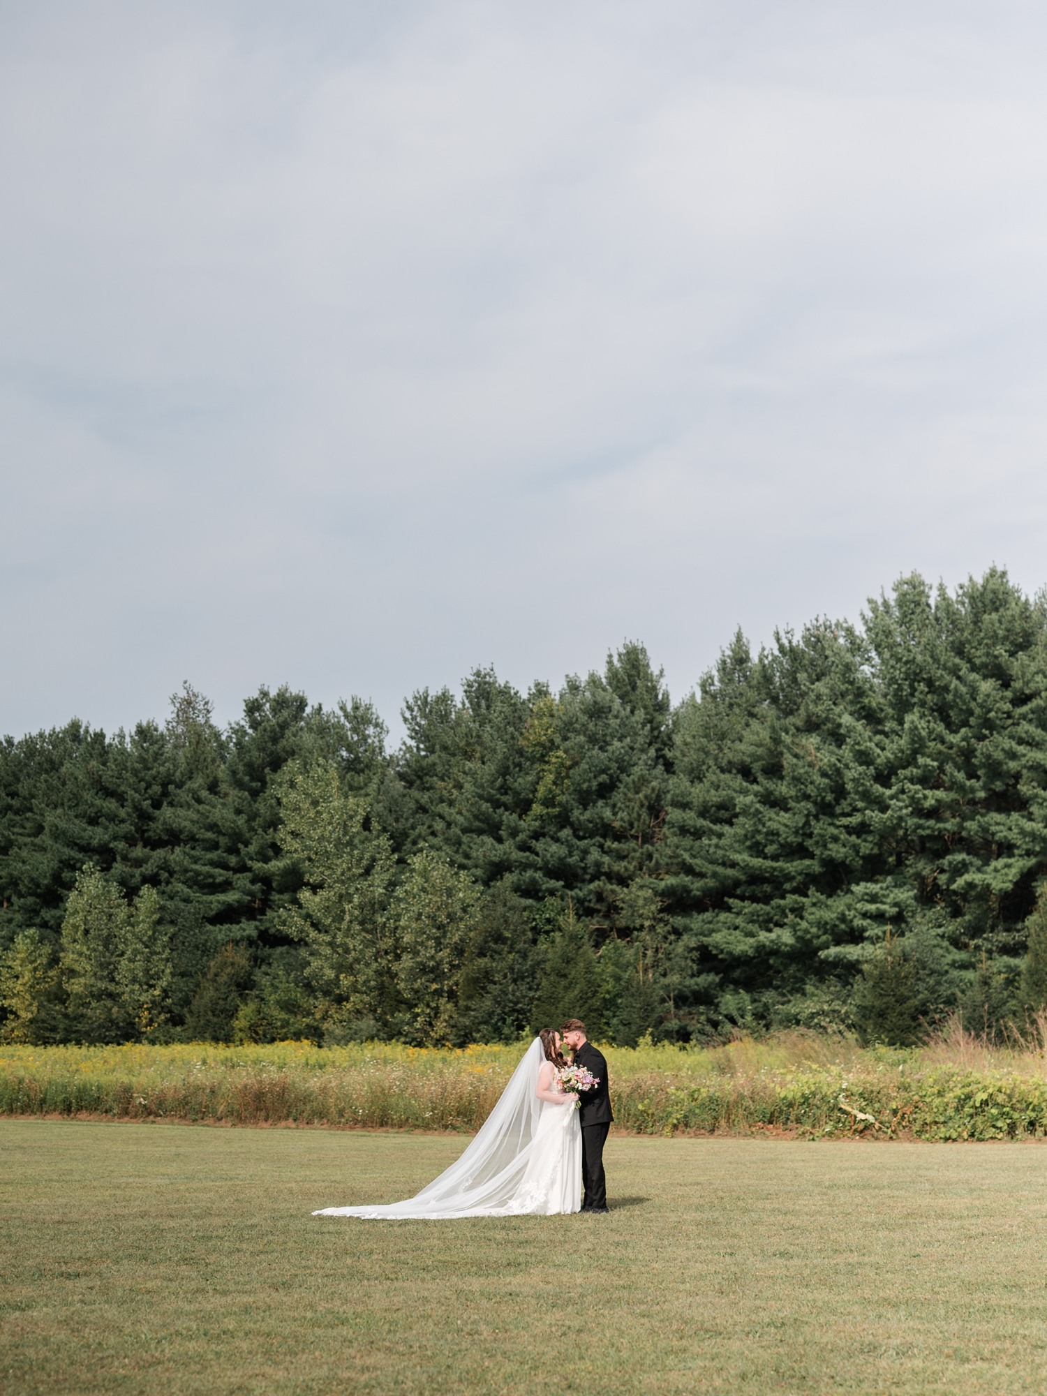
[{"label": "mowed grass lawn the wedding couple stands on", "polygon": [[613,1138],[606,1217],[310,1216],[465,1142],[0,1122],[0,1389],[1047,1389],[1043,1146]]}]

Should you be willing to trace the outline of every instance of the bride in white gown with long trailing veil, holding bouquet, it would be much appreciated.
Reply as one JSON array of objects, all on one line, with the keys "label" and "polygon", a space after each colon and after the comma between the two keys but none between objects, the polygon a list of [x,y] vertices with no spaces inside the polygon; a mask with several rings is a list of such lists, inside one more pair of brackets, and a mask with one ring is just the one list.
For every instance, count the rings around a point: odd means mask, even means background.
[{"label": "bride in white gown with long trailing veil, holding bouquet", "polygon": [[324,1208],[317,1217],[551,1216],[582,1206],[578,1096],[558,1089],[560,1034],[543,1027],[456,1163],[406,1202]]}]

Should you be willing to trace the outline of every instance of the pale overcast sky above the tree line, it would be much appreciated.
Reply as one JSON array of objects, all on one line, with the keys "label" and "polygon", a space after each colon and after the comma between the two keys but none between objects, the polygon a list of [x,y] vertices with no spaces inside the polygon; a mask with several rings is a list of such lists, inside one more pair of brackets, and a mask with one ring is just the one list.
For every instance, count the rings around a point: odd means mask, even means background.
[{"label": "pale overcast sky above the tree line", "polygon": [[0,732],[1047,582],[1047,11],[0,4]]}]

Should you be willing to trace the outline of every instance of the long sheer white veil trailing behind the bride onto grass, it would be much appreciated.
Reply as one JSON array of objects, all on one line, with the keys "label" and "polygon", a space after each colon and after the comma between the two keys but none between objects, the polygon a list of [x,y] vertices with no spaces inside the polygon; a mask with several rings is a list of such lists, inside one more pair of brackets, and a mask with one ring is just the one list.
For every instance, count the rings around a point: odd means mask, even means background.
[{"label": "long sheer white veil trailing behind the bride onto grass", "polygon": [[536,1037],[461,1159],[413,1198],[370,1208],[322,1208],[313,1216],[461,1217],[511,1210],[537,1128],[537,1074],[544,1055]]}]

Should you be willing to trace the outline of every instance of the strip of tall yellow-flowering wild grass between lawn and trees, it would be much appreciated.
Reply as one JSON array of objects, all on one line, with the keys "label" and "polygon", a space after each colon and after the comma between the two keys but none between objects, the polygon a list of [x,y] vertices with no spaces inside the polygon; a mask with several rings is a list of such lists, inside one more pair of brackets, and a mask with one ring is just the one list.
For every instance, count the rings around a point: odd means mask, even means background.
[{"label": "strip of tall yellow-flowering wild grass between lawn and trees", "polygon": [[[0,1114],[470,1131],[486,1120],[522,1050],[3,1047]],[[1047,1134],[1044,1023],[1007,1047],[952,1023],[913,1050],[779,1033],[720,1047],[604,1051],[616,1121],[639,1134]]]}]

